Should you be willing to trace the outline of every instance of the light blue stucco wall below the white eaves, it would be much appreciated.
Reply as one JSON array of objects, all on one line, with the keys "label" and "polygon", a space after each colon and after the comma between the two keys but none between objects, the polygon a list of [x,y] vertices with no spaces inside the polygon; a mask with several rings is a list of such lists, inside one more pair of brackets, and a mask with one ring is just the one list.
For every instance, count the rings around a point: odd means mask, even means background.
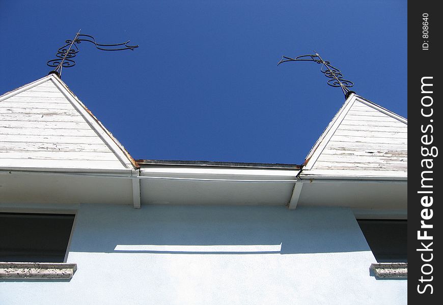
[{"label": "light blue stucco wall below the white eaves", "polygon": [[[210,245],[237,251],[189,252]],[[375,259],[347,208],[82,204],[68,262],[69,282],[0,282],[0,304],[407,303],[407,281],[370,275]]]}]

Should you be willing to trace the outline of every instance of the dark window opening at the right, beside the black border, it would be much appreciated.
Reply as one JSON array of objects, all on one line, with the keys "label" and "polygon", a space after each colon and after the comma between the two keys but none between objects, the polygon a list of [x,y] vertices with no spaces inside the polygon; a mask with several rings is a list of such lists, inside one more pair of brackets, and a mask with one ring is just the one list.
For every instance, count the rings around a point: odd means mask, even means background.
[{"label": "dark window opening at the right, beside the black border", "polygon": [[357,222],[378,263],[407,263],[407,220]]}]

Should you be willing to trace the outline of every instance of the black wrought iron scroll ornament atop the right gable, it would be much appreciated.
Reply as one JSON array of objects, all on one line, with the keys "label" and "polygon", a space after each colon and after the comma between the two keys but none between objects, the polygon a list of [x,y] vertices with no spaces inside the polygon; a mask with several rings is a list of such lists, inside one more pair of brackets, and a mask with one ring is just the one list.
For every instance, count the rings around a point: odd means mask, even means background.
[{"label": "black wrought iron scroll ornament atop the right gable", "polygon": [[327,81],[327,84],[333,87],[341,87],[345,97],[347,93],[350,92],[348,88],[354,85],[354,83],[350,80],[343,79],[342,72],[336,67],[332,66],[330,62],[323,60],[317,52],[315,52],[315,54],[300,55],[295,58],[283,56],[282,60],[280,60],[277,66],[286,62],[315,62],[317,64],[321,64],[321,72],[324,74],[324,76],[330,78]]}]

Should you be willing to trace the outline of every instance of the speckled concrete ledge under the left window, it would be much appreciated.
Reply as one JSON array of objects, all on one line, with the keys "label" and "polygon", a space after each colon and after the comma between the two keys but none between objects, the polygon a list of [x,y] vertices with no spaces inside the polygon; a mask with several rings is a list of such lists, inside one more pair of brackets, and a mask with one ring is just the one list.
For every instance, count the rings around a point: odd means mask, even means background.
[{"label": "speckled concrete ledge under the left window", "polygon": [[65,279],[77,270],[71,263],[11,263],[0,262],[0,279]]}]

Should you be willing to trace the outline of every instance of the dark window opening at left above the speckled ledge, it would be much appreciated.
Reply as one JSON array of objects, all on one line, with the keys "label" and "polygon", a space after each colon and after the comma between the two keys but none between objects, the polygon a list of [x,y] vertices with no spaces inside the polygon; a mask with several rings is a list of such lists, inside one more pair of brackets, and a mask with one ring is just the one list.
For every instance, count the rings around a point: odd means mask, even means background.
[{"label": "dark window opening at left above the speckled ledge", "polygon": [[74,215],[0,213],[0,261],[62,263]]}]

